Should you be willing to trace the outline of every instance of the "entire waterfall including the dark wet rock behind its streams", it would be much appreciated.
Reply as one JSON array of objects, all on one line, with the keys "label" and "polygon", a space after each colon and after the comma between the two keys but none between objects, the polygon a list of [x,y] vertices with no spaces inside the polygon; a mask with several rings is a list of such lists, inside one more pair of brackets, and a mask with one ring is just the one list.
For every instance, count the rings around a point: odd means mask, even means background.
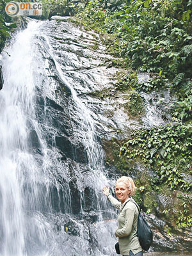
[{"label": "entire waterfall including the dark wet rock behind its streams", "polygon": [[[101,193],[111,181],[95,113],[81,95],[95,82],[67,71],[81,61],[63,50],[57,29],[32,20],[2,56],[1,256],[113,252],[116,223],[107,220],[116,213]],[[64,30],[63,39],[82,33],[67,23]]]}]

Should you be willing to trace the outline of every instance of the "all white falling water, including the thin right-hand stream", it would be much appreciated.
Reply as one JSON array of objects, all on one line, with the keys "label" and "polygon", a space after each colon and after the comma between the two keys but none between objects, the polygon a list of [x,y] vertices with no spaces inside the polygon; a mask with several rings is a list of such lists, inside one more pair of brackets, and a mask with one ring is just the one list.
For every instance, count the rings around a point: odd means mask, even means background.
[{"label": "all white falling water, including the thin right-hand stream", "polygon": [[[29,22],[28,28],[20,31],[15,36],[14,42],[10,44],[10,47],[6,47],[3,53],[4,86],[0,93],[2,109],[0,113],[0,255],[73,256],[84,255],[84,253],[104,255],[98,249],[93,252],[93,249],[89,248],[88,227],[74,219],[72,191],[69,186],[70,168],[67,162],[60,161],[58,150],[47,145],[44,131],[52,131],[49,122],[44,118],[44,124],[40,124],[36,117],[37,90],[41,90],[44,99],[44,106],[42,106],[44,116],[47,115],[47,95],[50,93],[52,98],[56,97],[54,85],[48,82],[49,74],[47,74],[49,61],[47,64],[46,61],[51,56],[59,76],[72,93],[69,112],[72,113],[72,108],[74,108],[74,113],[80,120],[78,124],[72,124],[72,128],[75,136],[81,134],[79,140],[83,143],[88,158],[86,168],[90,171],[85,176],[74,166],[80,200],[84,200],[84,188],[89,186],[93,189],[95,199],[92,204],[95,204],[95,210],[99,211],[98,220],[102,221],[101,208],[106,208],[106,202],[100,196],[100,189],[108,183],[108,179],[102,170],[104,155],[97,141],[95,121],[91,111],[79,99],[76,90],[64,76],[61,65],[52,51],[50,38],[41,28],[41,24],[44,22]],[[41,35],[42,33],[44,35]],[[39,45],[40,40],[42,43]],[[46,60],[39,50],[41,47],[49,52]],[[34,152],[34,147],[31,147],[31,132],[33,131],[36,134],[40,154]],[[55,138],[52,138],[53,142],[54,140]],[[79,167],[83,168],[77,165],[77,168]],[[59,182],[56,177],[58,173],[63,177]],[[52,188],[54,190],[51,190]],[[64,223],[61,223],[61,234],[58,235],[55,230],[58,224],[55,223],[60,222],[58,220],[60,217],[57,214],[54,215],[56,212],[54,207],[63,220],[72,220],[79,227],[78,239],[67,234],[63,229]],[[82,202],[81,212],[83,212]],[[110,223],[106,225],[100,223],[98,222],[93,228],[92,231],[97,234],[92,234],[92,236],[97,237],[102,244],[104,241],[99,237],[100,233],[104,232],[106,236],[112,231]],[[108,243],[113,241],[113,237],[111,240],[110,237],[106,239]],[[63,254],[65,249],[62,244],[65,244],[65,241],[68,241],[67,254]],[[68,247],[71,244],[74,244],[74,248]],[[80,252],[82,244],[84,248]]]}]

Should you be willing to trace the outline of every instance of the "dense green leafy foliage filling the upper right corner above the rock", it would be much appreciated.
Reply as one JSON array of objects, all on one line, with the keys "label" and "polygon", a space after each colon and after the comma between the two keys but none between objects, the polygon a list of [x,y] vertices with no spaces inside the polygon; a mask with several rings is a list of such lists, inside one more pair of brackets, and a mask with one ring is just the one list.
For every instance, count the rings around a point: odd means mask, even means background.
[{"label": "dense green leafy foliage filling the upper right corner above the rock", "polygon": [[191,77],[191,7],[191,0],[132,0],[111,12],[104,1],[96,0],[78,16],[90,28],[116,35],[110,45],[112,54],[131,60],[132,68],[154,73],[150,83],[136,88],[150,92],[179,74],[184,74],[185,81]]}]

